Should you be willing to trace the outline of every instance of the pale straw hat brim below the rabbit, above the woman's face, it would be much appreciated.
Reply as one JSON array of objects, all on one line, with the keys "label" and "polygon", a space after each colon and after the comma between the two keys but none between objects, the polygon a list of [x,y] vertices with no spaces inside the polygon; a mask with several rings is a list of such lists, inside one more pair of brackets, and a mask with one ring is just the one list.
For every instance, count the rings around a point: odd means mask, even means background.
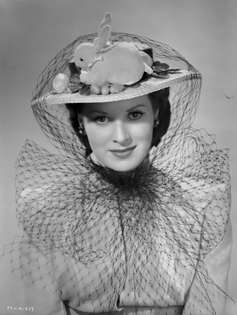
[{"label": "pale straw hat brim below the rabbit, above the woman's face", "polygon": [[176,73],[169,74],[168,78],[156,78],[150,77],[133,87],[126,87],[126,90],[119,92],[117,94],[80,94],[75,93],[62,93],[55,94],[51,92],[43,95],[40,99],[35,99],[32,105],[38,102],[46,102],[48,105],[53,104],[66,104],[66,103],[104,103],[104,102],[116,102],[124,99],[132,99],[135,97],[140,97],[142,95],[149,94],[151,92],[156,92],[162,90],[165,87],[170,87],[171,85],[176,85],[187,80],[201,79],[201,74],[198,72],[192,72],[187,70],[180,70]]}]

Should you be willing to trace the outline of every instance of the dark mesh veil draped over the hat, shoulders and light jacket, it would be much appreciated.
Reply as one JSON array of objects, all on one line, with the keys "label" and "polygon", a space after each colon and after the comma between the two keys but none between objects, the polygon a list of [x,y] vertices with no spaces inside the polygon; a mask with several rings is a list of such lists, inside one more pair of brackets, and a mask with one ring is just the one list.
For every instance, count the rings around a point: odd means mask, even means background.
[{"label": "dark mesh veil draped over the hat, shoulders and light jacket", "polygon": [[112,33],[111,42],[146,43],[154,60],[194,74],[170,86],[170,127],[149,162],[128,174],[99,167],[86,158],[65,104],[48,105],[43,97],[57,73],[69,73],[75,47],[96,36],[77,38],[59,52],[34,91],[36,120],[60,153],[27,141],[16,162],[25,236],[15,241],[15,274],[27,286],[43,288],[50,279],[69,307],[88,313],[132,307],[169,314],[182,305],[182,314],[215,314],[213,301],[224,293],[210,279],[205,256],[226,232],[230,184],[228,151],[191,128],[201,76],[168,45]]}]

